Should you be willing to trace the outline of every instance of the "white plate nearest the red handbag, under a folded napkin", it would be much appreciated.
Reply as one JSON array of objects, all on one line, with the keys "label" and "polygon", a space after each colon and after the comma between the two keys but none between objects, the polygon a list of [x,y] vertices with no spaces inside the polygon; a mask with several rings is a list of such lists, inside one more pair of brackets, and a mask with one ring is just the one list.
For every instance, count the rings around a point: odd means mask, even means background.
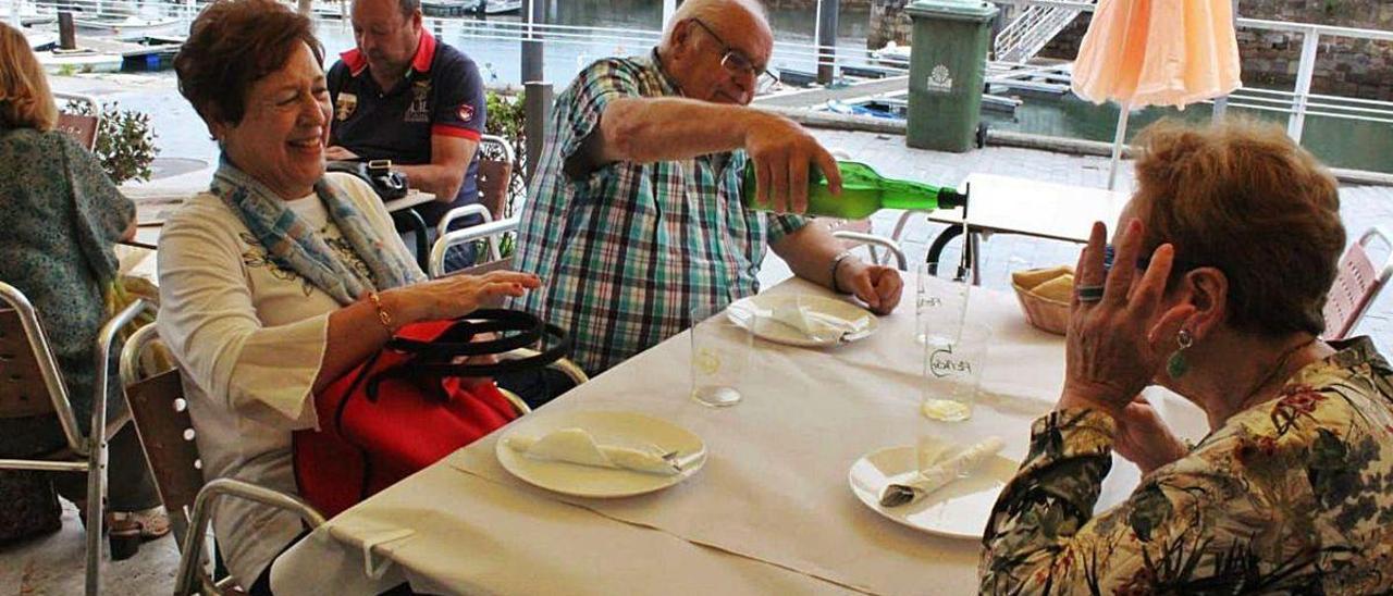
[{"label": "white plate nearest the red handbag, under a folded napkin", "polygon": [[[664,453],[677,451],[677,458],[688,458],[681,473],[671,476],[596,468],[560,461],[534,460],[507,447],[507,439],[540,437],[553,430],[581,428],[598,443],[652,444]],[[701,437],[660,418],[635,412],[571,411],[560,414],[534,412],[518,419],[499,439],[495,454],[503,469],[534,486],[577,497],[631,497],[652,493],[683,482],[706,465],[706,444]],[[695,458],[690,455],[699,454]]]}]

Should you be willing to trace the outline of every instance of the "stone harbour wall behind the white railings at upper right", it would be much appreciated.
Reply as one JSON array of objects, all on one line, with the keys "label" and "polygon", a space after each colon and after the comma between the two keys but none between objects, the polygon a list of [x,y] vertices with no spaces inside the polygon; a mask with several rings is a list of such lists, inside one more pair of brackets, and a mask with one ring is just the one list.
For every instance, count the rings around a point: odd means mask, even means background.
[{"label": "stone harbour wall behind the white railings at upper right", "polygon": [[[904,0],[872,0],[868,46],[880,47],[889,39],[908,43],[908,25],[898,25],[903,6]],[[1238,14],[1266,21],[1393,31],[1393,1],[1389,0],[1240,0]],[[1077,56],[1088,18],[1087,13],[1081,14],[1041,56],[1066,60]],[[1238,29],[1238,53],[1243,56],[1245,84],[1279,89],[1295,86],[1301,63],[1300,33]],[[1393,43],[1321,36],[1311,89],[1347,97],[1393,100]]]}]

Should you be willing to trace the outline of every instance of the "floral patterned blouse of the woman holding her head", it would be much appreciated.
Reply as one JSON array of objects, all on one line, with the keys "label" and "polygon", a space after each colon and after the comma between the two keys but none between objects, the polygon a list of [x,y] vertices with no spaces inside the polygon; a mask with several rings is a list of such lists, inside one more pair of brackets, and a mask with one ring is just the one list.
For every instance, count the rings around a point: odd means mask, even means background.
[{"label": "floral patterned blouse of the woman holding her head", "polygon": [[1368,338],[1333,345],[1098,515],[1113,419],[1036,421],[986,526],[982,592],[1393,590],[1393,369]]}]

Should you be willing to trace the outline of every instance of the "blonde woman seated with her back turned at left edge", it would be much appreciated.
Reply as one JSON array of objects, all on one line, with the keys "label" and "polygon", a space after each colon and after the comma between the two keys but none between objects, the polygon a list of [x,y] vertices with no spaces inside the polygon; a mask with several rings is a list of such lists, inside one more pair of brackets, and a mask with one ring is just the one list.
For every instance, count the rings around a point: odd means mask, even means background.
[{"label": "blonde woman seated with her back turned at left edge", "polygon": [[[104,290],[117,277],[111,248],[134,235],[135,205],[92,153],[56,130],[57,120],[29,42],[0,24],[0,281],[22,291],[38,311],[81,432],[88,433],[96,384],[92,351],[107,317]],[[107,408],[124,408],[120,383],[111,379],[109,387]],[[0,419],[0,457],[38,457],[65,444],[53,415]],[[145,538],[167,533],[132,428],[110,441],[110,462],[109,507],[117,521],[141,524]],[[79,505],[86,499],[79,473],[54,475],[54,486]],[[11,503],[7,497],[0,494],[0,503]]]}]

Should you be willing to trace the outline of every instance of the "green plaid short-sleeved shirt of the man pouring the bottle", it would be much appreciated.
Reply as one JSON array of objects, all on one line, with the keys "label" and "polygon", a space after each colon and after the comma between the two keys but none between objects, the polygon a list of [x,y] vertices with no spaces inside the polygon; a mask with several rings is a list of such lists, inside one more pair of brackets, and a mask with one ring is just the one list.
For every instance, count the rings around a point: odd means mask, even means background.
[{"label": "green plaid short-sleeved shirt of the man pouring the bottle", "polygon": [[678,96],[648,57],[606,58],[556,97],[546,149],[528,189],[517,269],[542,288],[513,301],[567,329],[573,359],[599,373],[691,326],[690,311],[759,291],[769,242],[797,216],[740,203],[744,150],[680,162],[609,164],[585,180],[561,167],[617,97]]}]

